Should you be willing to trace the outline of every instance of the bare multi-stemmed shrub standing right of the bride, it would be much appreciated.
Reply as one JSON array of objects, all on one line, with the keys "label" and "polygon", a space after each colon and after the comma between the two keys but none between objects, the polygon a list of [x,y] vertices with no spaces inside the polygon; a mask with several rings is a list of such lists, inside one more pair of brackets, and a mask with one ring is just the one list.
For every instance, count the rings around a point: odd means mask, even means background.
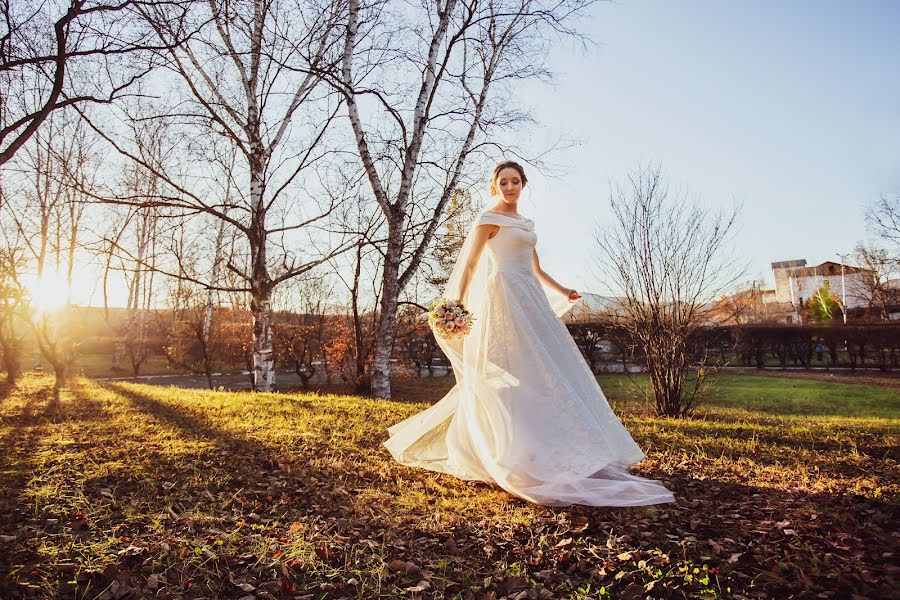
[{"label": "bare multi-stemmed shrub standing right of the bride", "polygon": [[742,273],[727,248],[737,209],[708,213],[686,194],[670,196],[658,167],[631,173],[611,205],[612,222],[596,233],[599,267],[645,356],[657,414],[687,416],[705,379],[706,354],[692,346],[713,300]]}]

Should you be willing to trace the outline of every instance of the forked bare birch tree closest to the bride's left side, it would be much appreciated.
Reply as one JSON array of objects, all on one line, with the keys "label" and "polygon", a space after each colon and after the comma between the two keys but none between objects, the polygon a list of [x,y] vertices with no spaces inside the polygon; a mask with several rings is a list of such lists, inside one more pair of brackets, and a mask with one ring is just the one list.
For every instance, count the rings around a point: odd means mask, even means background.
[{"label": "forked bare birch tree closest to the bride's left side", "polygon": [[529,121],[512,84],[543,78],[549,36],[591,0],[348,0],[334,82],[372,196],[385,217],[381,310],[372,389],[390,397],[397,305],[417,272],[471,159],[497,153],[496,135]]}]

